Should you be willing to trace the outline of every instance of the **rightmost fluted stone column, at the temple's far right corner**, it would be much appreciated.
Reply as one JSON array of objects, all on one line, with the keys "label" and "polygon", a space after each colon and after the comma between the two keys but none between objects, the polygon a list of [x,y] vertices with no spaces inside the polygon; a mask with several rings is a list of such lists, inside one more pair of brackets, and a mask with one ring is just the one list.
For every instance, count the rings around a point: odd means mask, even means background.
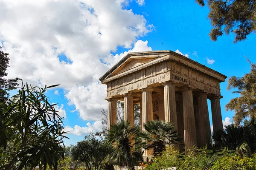
[{"label": "rightmost fluted stone column, at the temple's far right corner", "polygon": [[212,108],[213,131],[223,129],[220,99],[221,99],[221,97],[219,97],[219,96],[210,98],[211,108]]}]

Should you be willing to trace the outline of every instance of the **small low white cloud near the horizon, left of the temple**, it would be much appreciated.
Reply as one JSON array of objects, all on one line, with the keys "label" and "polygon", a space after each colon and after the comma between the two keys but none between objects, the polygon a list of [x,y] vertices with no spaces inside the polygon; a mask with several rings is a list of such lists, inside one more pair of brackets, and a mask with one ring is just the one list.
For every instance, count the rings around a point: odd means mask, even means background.
[{"label": "small low white cloud near the horizon, left of the temple", "polygon": [[93,124],[90,124],[89,122],[86,124],[87,127],[80,127],[78,125],[75,125],[74,128],[70,126],[66,126],[64,128],[65,132],[68,132],[69,134],[74,134],[77,136],[83,136],[86,134],[89,134],[90,132],[99,132],[102,130],[102,123],[101,121],[96,121]]}]

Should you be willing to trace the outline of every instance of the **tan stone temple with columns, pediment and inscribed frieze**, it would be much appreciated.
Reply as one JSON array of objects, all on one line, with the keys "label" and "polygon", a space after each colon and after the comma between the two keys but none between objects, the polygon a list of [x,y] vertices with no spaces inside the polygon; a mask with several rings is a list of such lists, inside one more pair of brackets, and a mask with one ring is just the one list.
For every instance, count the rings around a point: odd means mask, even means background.
[{"label": "tan stone temple with columns, pediment and inscribed frieze", "polygon": [[226,78],[173,51],[129,53],[99,79],[108,86],[108,128],[116,124],[117,100],[124,101],[124,119],[131,125],[138,103],[141,124],[153,119],[173,122],[185,150],[195,144],[204,147],[211,136],[207,99],[213,130],[223,128],[220,82]]}]

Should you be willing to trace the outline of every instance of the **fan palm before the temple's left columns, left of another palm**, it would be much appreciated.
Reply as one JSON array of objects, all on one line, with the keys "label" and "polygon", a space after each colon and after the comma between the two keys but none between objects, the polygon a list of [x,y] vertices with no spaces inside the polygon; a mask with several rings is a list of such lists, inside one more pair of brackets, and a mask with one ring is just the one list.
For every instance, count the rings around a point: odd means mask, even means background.
[{"label": "fan palm before the temple's left columns, left of another palm", "polygon": [[107,158],[108,164],[117,163],[121,167],[128,166],[129,169],[134,169],[136,162],[143,161],[141,150],[135,148],[134,143],[139,131],[138,125],[130,126],[129,122],[123,120],[116,125],[111,125],[106,138],[114,144],[115,149]]}]

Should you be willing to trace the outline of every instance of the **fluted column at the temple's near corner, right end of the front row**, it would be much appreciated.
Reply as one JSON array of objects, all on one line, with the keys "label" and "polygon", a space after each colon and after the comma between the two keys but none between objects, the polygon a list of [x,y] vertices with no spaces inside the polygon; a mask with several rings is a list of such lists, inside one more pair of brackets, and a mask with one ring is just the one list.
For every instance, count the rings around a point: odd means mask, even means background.
[{"label": "fluted column at the temple's near corner, right end of the front row", "polygon": [[164,117],[166,122],[172,122],[174,129],[178,129],[176,100],[175,100],[175,82],[164,82]]}]

